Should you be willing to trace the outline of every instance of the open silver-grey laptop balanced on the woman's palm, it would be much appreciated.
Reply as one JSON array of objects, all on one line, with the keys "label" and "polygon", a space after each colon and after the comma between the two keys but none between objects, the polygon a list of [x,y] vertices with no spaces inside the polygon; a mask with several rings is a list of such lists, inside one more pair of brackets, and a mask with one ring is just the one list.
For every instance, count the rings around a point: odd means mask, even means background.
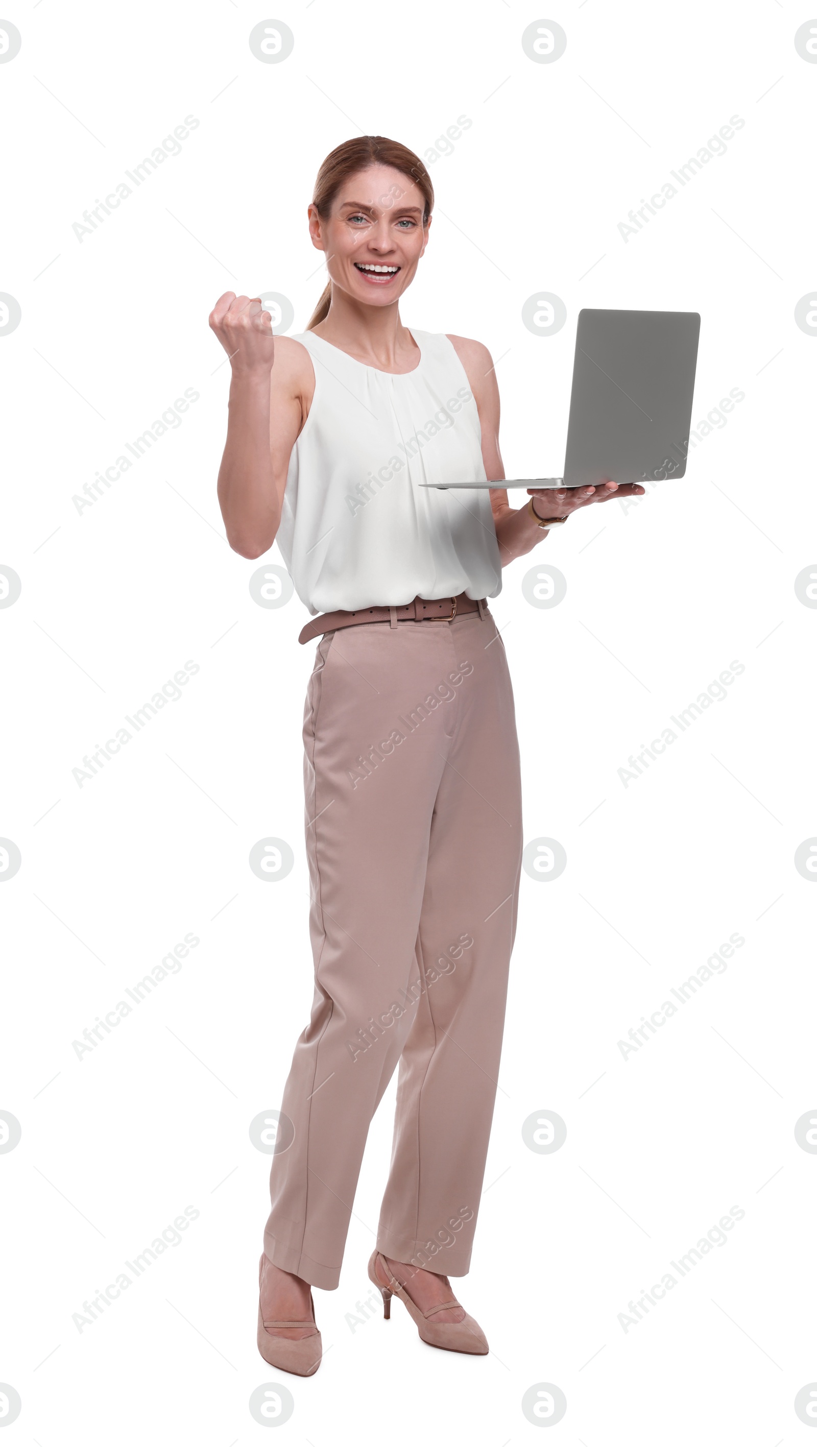
[{"label": "open silver-grey laptop balanced on the woman's palm", "polygon": [[564,476],[421,486],[584,488],[683,478],[700,326],[697,311],[580,311]]}]

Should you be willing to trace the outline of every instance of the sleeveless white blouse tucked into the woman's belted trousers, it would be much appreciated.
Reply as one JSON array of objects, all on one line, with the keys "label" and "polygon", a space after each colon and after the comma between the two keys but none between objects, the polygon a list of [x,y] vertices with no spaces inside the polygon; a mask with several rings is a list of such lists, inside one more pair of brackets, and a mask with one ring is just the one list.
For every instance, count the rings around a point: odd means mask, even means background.
[{"label": "sleeveless white blouse tucked into the woman's belted trousers", "polygon": [[314,331],[294,337],[312,359],[315,395],[289,459],[278,544],[311,614],[502,589],[489,492],[418,486],[486,473],[451,341],[411,334],[419,366],[399,376]]}]

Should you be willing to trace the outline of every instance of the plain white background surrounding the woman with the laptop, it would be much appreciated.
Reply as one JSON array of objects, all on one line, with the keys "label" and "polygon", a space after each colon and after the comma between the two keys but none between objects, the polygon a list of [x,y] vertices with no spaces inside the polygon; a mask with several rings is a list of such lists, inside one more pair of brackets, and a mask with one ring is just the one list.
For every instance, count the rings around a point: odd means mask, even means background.
[{"label": "plain white background surrounding the woman with the laptop", "polygon": [[[359,132],[421,156],[438,208],[408,324],[483,340],[497,360],[509,476],[558,472],[581,307],[701,313],[693,423],[745,399],[687,476],[638,506],[570,521],[505,574],[525,836],[558,839],[558,880],[523,875],[506,1045],[473,1269],[457,1281],[489,1357],[432,1351],[369,1295],[392,1090],[373,1123],[340,1288],[317,1292],[318,1375],[281,1375],[286,1443],[538,1441],[522,1395],[551,1382],[555,1443],[811,1441],[794,1396],[817,1378],[814,628],[794,579],[814,563],[817,65],[791,3],[600,0],[555,12],[244,0],[6,12],[0,336],[6,423],[0,612],[6,787],[22,867],[0,890],[0,1158],[10,1444],[266,1441],[247,1408],[276,1380],[256,1353],[269,1158],[249,1123],[279,1106],[311,1003],[301,715],[305,609],[262,609],[260,566],[230,551],[215,499],[228,366],[207,327],[226,289],[322,289],[307,204],[322,156]],[[250,29],[295,36],[262,64]],[[565,54],[521,45],[541,16]],[[817,22],[816,22],[817,23]],[[182,145],[81,242],[72,223],[192,114]],[[626,242],[617,224],[729,117],[700,175]],[[13,140],[12,140],[13,135]],[[542,288],[568,320],[522,324]],[[80,514],[74,495],[185,388],[200,399]],[[521,501],[519,495],[516,499]],[[268,561],[281,563],[273,548]],[[554,609],[522,577],[567,579]],[[200,671],[103,770],[72,770],[194,660]],[[745,671],[628,787],[617,770],[717,674]],[[295,851],[282,881],[247,855]],[[184,938],[176,975],[90,1053],[72,1040]],[[617,1046],[729,939],[723,974],[626,1059]],[[539,1155],[541,1110],[567,1142]],[[185,1205],[198,1218],[91,1325],[72,1314]],[[619,1314],[732,1205],[745,1211],[638,1324]],[[678,1273],[675,1273],[678,1275]],[[814,1422],[813,1422],[814,1425]],[[544,1424],[547,1427],[547,1422]]]}]

